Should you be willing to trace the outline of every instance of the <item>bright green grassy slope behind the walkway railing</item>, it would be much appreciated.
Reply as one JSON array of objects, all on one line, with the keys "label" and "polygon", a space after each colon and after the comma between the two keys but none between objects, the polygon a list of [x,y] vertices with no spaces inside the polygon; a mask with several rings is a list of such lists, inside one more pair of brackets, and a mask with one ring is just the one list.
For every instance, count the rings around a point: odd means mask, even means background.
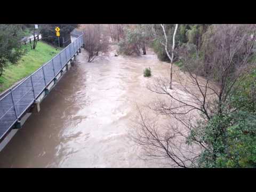
[{"label": "bright green grassy slope behind the walkway railing", "polygon": [[0,77],[0,93],[11,87],[15,82],[32,74],[46,61],[49,61],[60,52],[60,50],[43,42],[38,42],[35,50],[31,50],[30,47],[27,47],[27,50],[28,52],[21,57],[16,65],[4,68],[5,71]]}]

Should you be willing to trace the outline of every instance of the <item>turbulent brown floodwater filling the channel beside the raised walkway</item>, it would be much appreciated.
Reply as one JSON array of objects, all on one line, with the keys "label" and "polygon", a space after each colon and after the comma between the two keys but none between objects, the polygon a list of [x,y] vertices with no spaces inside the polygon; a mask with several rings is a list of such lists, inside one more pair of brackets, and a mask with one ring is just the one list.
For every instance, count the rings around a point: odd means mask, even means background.
[{"label": "turbulent brown floodwater filling the channel beside the raised walkway", "polygon": [[0,167],[162,167],[143,160],[128,137],[135,103],[155,97],[146,89],[145,67],[153,77],[168,75],[169,64],[154,54],[87,63],[82,51],[1,151]]}]

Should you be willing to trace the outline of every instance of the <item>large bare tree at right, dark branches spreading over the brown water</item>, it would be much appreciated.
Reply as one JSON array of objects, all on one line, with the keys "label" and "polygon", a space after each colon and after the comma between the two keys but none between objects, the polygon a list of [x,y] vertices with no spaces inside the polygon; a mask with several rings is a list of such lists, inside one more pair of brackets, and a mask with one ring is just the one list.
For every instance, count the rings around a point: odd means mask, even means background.
[{"label": "large bare tree at right, dark branches spreading over the brown water", "polygon": [[[175,73],[175,90],[168,89],[167,78],[157,78],[148,85],[151,92],[163,96],[148,107],[168,117],[166,125],[150,122],[139,110],[134,140],[150,157],[169,158],[171,166],[200,166],[198,158],[202,151],[207,151],[206,158],[213,161],[218,153],[225,153],[225,147],[220,149],[215,142],[222,139],[226,143],[226,127],[205,127],[215,114],[226,113],[223,105],[228,103],[230,93],[243,81],[250,66],[255,66],[249,62],[255,44],[255,25],[213,25],[205,37],[202,47],[207,59],[199,57],[198,50],[192,54],[186,46],[178,50],[185,71]],[[237,108],[226,110],[233,113]],[[211,139],[207,139],[209,133]]]}]

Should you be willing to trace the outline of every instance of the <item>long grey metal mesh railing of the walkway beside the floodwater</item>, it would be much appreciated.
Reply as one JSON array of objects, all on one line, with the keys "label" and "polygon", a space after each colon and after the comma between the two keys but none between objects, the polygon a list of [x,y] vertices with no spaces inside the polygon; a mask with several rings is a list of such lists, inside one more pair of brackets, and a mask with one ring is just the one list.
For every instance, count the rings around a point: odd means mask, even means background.
[{"label": "long grey metal mesh railing of the walkway beside the floodwater", "polygon": [[83,36],[81,34],[73,43],[0,98],[0,140],[82,46]]}]

